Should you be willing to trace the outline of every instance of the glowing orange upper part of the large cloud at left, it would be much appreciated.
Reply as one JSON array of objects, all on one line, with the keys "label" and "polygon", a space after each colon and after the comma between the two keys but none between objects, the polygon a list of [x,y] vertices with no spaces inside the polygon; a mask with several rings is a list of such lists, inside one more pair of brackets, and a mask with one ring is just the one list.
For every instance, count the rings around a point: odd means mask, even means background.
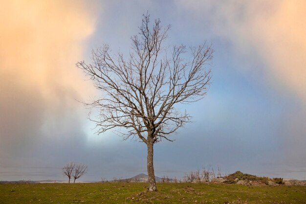
[{"label": "glowing orange upper part of the large cloud at left", "polygon": [[74,66],[84,58],[84,42],[95,26],[85,2],[3,1],[0,19],[1,78],[10,75],[12,83],[39,88],[52,101],[59,88],[87,92]]}]

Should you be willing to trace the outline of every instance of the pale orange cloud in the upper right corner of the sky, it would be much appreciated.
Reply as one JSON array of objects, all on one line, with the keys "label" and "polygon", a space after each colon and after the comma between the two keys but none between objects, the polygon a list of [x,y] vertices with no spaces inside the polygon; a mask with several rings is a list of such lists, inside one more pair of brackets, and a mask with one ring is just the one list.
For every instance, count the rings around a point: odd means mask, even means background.
[{"label": "pale orange cloud in the upper right corner of the sky", "polygon": [[257,50],[277,86],[288,87],[306,105],[306,1],[284,0],[275,12],[254,20]]}]

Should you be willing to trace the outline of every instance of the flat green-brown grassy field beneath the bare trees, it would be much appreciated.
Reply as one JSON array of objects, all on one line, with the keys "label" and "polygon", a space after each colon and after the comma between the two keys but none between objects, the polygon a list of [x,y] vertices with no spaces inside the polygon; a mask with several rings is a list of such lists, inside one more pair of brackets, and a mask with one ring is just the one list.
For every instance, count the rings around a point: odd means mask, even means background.
[{"label": "flat green-brown grassy field beneath the bare trees", "polygon": [[212,183],[6,183],[0,204],[306,204],[306,186]]}]

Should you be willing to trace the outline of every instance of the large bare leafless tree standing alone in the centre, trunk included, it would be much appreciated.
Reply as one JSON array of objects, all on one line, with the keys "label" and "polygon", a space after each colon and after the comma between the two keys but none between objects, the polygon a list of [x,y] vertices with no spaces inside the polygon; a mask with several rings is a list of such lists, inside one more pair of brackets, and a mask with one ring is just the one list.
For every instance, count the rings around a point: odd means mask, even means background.
[{"label": "large bare leafless tree standing alone in the centre, trunk included", "polygon": [[190,47],[191,60],[185,60],[186,46],[164,46],[171,26],[163,28],[155,20],[150,28],[149,17],[143,15],[139,34],[131,37],[128,60],[120,52],[112,55],[104,45],[92,51],[90,64],[82,61],[76,66],[104,94],[85,103],[100,111],[98,118],[90,118],[97,133],[116,128],[124,139],[133,136],[144,142],[148,148],[148,190],[155,191],[153,145],[162,139],[173,141],[169,135],[190,121],[191,116],[177,105],[206,95],[211,71],[205,66],[212,61],[213,48],[206,42]]}]

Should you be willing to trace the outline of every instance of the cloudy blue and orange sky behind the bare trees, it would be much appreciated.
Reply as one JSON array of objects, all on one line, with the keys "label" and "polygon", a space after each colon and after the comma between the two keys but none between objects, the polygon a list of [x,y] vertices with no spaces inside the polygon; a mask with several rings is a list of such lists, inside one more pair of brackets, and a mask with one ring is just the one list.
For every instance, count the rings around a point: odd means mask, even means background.
[{"label": "cloudy blue and orange sky behind the bare trees", "polygon": [[[1,0],[2,1],[2,0]],[[306,1],[10,0],[0,7],[0,181],[83,181],[146,173],[146,145],[97,135],[79,101],[103,93],[75,67],[103,44],[128,53],[142,14],[160,19],[168,45],[214,45],[207,96],[154,146],[156,176],[224,173],[306,180]]]}]

